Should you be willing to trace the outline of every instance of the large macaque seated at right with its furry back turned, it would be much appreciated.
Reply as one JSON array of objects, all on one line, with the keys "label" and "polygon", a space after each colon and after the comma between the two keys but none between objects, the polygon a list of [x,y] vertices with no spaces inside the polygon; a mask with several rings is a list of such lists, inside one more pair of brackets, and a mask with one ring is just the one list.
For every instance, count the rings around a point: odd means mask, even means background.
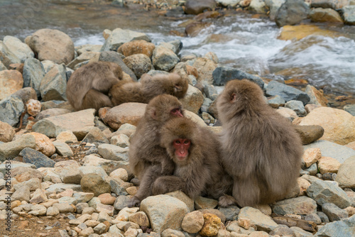
[{"label": "large macaque seated at right with its furry back turned", "polygon": [[290,122],[263,99],[246,79],[226,84],[217,100],[222,121],[222,162],[234,179],[240,206],[283,199],[300,175],[302,145]]}]

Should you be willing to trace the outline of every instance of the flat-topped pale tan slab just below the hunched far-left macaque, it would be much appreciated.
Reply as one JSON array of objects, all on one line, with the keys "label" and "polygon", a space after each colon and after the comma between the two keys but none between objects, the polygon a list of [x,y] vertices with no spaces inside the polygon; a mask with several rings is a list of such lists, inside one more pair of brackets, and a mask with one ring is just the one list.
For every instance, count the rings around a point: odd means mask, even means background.
[{"label": "flat-topped pale tan slab just below the hunched far-left macaque", "polygon": [[56,137],[62,131],[72,131],[78,140],[84,138],[94,126],[94,109],[85,109],[70,114],[43,118],[35,123],[33,131],[48,137]]}]

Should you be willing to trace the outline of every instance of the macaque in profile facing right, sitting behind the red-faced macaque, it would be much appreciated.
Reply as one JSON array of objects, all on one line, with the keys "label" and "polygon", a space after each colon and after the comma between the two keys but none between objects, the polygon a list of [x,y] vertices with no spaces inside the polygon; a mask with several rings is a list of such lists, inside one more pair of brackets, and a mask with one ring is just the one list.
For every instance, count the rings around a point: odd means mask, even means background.
[{"label": "macaque in profile facing right, sitting behind the red-faced macaque", "polygon": [[151,195],[151,184],[162,175],[171,175],[174,162],[160,146],[160,128],[171,118],[182,117],[180,101],[169,94],[153,98],[138,122],[129,146],[129,167],[141,181],[137,194],[129,206],[136,206]]}]

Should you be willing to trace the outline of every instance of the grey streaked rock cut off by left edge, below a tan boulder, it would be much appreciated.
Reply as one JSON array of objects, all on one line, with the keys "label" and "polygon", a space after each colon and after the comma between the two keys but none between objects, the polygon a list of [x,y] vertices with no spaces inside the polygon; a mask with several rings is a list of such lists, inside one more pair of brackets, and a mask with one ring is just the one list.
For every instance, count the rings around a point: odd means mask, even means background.
[{"label": "grey streaked rock cut off by left edge, below a tan boulder", "polygon": [[22,99],[9,96],[0,101],[0,121],[15,126],[25,109]]}]

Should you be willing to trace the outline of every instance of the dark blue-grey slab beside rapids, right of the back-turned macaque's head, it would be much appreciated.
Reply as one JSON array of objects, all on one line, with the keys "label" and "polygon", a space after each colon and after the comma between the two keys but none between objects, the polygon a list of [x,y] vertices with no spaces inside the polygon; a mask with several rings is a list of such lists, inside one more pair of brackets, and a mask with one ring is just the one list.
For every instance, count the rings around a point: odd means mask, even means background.
[{"label": "dark blue-grey slab beside rapids, right of the back-turned macaque's head", "polygon": [[276,81],[271,81],[268,83],[268,87],[266,88],[266,95],[269,97],[279,95],[280,97],[283,97],[285,101],[299,100],[302,101],[304,105],[310,101],[310,97],[300,89],[295,89],[294,87],[290,87],[286,84],[282,84]]}]

